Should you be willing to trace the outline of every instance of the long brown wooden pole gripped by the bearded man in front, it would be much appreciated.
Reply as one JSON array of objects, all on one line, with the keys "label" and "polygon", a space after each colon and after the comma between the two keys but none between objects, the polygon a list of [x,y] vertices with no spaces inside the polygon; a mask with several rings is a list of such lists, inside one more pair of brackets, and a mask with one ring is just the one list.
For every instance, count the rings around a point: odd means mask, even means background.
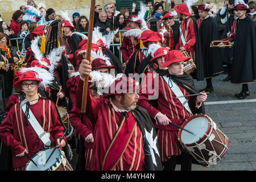
[{"label": "long brown wooden pole gripped by the bearded man in front", "polygon": [[[87,47],[86,47],[86,59],[89,61],[90,61],[90,51],[92,48],[92,33],[93,33],[93,22],[94,22],[94,13],[95,13],[94,9],[95,9],[95,0],[92,0],[92,1],[90,1],[90,20],[89,20],[88,40],[87,40]],[[90,62],[90,64],[91,64],[91,62]],[[85,111],[86,111],[88,81],[89,81],[89,76],[86,75],[84,78],[84,86],[82,88],[81,113],[85,113]]]}]

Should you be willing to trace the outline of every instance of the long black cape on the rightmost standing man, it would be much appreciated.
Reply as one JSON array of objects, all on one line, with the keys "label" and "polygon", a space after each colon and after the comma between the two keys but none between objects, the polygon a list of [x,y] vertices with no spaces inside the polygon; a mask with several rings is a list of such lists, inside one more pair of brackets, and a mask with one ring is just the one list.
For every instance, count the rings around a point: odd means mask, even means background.
[{"label": "long black cape on the rightmost standing man", "polygon": [[256,80],[255,24],[246,16],[237,19],[232,63],[232,84],[250,83]]}]

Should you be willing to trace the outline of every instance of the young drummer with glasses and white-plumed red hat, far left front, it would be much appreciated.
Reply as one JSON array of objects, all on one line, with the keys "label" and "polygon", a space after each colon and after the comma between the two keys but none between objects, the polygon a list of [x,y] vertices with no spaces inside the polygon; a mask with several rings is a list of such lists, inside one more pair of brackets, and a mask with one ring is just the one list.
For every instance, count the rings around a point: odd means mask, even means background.
[{"label": "young drummer with glasses and white-plumed red hat, far left front", "polygon": [[[51,80],[49,72],[36,67],[20,69],[19,77],[15,78],[14,87],[23,90],[26,100],[11,107],[0,126],[1,140],[11,148],[15,170],[24,170],[29,160],[25,153],[32,158],[44,146],[65,146],[65,137],[60,142],[64,129],[55,105],[38,95],[39,86],[47,85]],[[42,137],[38,136],[40,127],[32,127],[31,118],[46,131]]]}]

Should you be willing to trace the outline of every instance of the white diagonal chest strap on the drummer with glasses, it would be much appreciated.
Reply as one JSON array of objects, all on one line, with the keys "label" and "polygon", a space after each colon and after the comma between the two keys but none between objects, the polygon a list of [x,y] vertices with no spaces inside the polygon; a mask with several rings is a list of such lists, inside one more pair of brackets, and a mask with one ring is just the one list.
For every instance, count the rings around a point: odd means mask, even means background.
[{"label": "white diagonal chest strap on the drummer with glasses", "polygon": [[[24,113],[26,112],[26,102],[27,99],[25,98],[20,103],[20,107],[22,108]],[[51,140],[49,139],[49,133],[46,133],[46,131],[43,130],[42,126],[36,120],[35,115],[32,113],[30,109],[28,110],[28,114],[30,115],[30,118],[28,118],[27,120],[30,122],[30,125],[33,127],[38,137],[42,140],[45,146],[50,146]]]}]

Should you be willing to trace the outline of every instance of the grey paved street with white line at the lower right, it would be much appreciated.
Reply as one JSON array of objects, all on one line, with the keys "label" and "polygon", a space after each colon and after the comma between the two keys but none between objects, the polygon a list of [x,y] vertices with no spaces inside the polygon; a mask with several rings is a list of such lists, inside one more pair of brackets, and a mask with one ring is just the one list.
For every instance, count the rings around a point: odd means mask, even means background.
[{"label": "grey paved street with white line at the lower right", "polygon": [[[229,138],[229,149],[224,158],[208,168],[195,165],[192,170],[256,170],[256,82],[249,84],[250,96],[239,100],[241,85],[222,81],[225,74],[213,78],[214,92],[205,102],[205,113]],[[206,81],[195,81],[196,88],[203,89]]]}]

